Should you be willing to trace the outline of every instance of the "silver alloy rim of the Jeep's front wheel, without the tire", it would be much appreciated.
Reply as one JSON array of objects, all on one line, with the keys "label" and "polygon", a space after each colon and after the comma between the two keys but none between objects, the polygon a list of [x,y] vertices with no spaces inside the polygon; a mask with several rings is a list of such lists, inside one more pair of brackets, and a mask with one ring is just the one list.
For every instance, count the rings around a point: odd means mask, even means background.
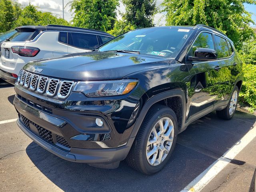
[{"label": "silver alloy rim of the Jeep's front wheel, without the tire", "polygon": [[170,118],[164,117],[153,126],[148,137],[146,157],[152,166],[161,164],[172,147],[174,125]]}]

